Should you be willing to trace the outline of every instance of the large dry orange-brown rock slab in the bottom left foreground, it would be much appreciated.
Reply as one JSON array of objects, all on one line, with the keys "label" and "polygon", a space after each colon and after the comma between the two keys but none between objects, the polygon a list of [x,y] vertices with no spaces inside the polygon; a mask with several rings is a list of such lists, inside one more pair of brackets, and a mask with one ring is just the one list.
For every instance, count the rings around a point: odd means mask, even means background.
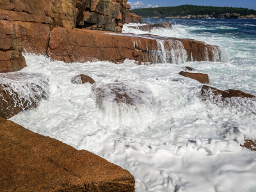
[{"label": "large dry orange-brown rock slab in the bottom left foreground", "polygon": [[0,118],[1,191],[133,192],[127,170]]}]

